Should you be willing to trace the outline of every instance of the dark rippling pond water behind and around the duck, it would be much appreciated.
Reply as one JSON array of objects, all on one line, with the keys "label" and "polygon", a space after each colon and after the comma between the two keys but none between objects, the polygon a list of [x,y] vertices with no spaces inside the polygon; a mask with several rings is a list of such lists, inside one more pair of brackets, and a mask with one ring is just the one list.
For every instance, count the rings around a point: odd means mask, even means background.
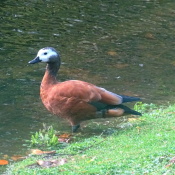
[{"label": "dark rippling pond water behind and around the duck", "polygon": [[43,122],[70,131],[40,100],[45,65],[28,65],[46,46],[60,51],[59,81],[81,79],[147,103],[174,102],[174,9],[173,0],[1,1],[0,157],[20,152]]}]

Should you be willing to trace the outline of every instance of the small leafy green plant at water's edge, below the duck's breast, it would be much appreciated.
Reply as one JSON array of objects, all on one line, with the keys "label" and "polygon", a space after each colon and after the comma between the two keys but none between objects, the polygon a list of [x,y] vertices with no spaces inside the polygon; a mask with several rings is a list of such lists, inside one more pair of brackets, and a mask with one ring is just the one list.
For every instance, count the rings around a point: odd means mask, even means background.
[{"label": "small leafy green plant at water's edge, below the duck's breast", "polygon": [[60,144],[58,142],[58,137],[55,136],[55,131],[52,126],[46,126],[43,124],[43,130],[36,132],[31,136],[32,146],[57,146]]}]

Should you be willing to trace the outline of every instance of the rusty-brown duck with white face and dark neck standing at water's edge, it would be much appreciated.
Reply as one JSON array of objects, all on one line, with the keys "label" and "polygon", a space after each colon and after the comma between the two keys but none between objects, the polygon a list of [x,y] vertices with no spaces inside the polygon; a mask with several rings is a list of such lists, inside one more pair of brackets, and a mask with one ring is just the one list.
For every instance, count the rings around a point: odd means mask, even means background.
[{"label": "rusty-brown duck with white face and dark neck standing at water's edge", "polygon": [[45,47],[29,64],[46,63],[40,86],[40,97],[48,111],[68,120],[72,132],[85,120],[142,114],[123,105],[139,101],[139,97],[118,95],[104,88],[81,80],[58,82],[56,77],[61,65],[60,55],[53,47]]}]

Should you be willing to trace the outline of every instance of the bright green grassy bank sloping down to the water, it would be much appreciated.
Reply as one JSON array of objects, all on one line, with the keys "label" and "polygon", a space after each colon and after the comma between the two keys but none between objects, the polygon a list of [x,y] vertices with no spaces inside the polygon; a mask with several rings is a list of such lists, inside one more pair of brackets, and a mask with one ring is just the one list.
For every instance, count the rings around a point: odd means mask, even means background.
[{"label": "bright green grassy bank sloping down to the water", "polygon": [[68,163],[32,169],[25,166],[43,158],[31,156],[8,166],[6,174],[175,174],[175,164],[166,167],[175,156],[175,105],[138,104],[135,108],[144,114],[130,122],[130,127],[116,129],[112,135],[77,138],[58,149],[60,154],[75,154],[62,156]]}]

